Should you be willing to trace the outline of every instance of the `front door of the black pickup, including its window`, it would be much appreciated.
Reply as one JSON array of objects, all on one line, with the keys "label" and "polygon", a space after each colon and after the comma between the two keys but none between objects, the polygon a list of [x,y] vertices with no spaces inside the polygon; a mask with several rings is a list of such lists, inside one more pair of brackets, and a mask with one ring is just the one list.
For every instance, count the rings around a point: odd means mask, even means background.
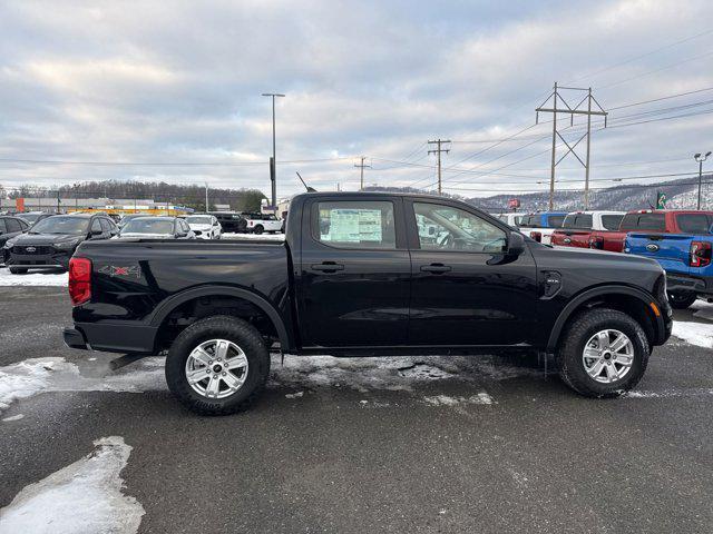
[{"label": "front door of the black pickup, including its window", "polygon": [[406,200],[406,215],[412,263],[409,344],[529,344],[537,298],[529,249],[504,255],[508,231],[460,206]]}]

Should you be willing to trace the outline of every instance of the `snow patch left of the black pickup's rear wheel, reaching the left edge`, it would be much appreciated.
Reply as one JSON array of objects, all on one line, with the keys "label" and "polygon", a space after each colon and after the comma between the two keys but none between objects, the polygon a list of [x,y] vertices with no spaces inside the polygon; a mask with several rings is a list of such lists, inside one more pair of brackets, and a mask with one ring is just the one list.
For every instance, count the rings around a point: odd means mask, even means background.
[{"label": "snow patch left of the black pickup's rear wheel, reaching the left edge", "polygon": [[0,367],[0,412],[14,400],[46,392],[143,393],[166,389],[164,358],[139,360],[131,369],[106,377],[86,377],[65,358],[31,358]]}]

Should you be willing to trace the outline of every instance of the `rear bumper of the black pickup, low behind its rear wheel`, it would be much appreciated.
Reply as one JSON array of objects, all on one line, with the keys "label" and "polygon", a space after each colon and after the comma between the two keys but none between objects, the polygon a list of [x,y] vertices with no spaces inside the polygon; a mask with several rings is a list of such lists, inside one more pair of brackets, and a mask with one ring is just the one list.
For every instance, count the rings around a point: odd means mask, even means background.
[{"label": "rear bumper of the black pickup, low behind its rear wheel", "polygon": [[76,323],[65,328],[65,345],[106,353],[154,354],[158,327],[118,323]]}]

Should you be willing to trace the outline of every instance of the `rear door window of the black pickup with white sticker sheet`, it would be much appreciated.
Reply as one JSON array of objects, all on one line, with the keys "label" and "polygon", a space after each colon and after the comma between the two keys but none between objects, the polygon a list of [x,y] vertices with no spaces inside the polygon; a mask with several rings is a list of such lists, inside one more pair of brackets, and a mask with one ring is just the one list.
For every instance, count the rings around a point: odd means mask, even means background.
[{"label": "rear door window of the black pickup with white sticker sheet", "polygon": [[388,201],[319,202],[314,234],[340,248],[395,248],[393,204]]}]

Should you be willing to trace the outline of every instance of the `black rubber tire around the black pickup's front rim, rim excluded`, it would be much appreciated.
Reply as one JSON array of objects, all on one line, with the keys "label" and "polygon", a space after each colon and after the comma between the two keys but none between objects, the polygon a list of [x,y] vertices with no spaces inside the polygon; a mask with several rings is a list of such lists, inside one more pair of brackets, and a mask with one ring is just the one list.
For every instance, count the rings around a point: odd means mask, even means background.
[{"label": "black rubber tire around the black pickup's front rim, rim excluded", "polygon": [[[600,383],[592,378],[583,362],[587,342],[604,329],[624,333],[632,342],[634,362],[628,373],[612,383]],[[651,354],[648,339],[641,325],[631,316],[608,308],[588,309],[574,317],[565,332],[557,350],[559,376],[572,389],[587,397],[611,398],[632,389],[644,376]]]}]

